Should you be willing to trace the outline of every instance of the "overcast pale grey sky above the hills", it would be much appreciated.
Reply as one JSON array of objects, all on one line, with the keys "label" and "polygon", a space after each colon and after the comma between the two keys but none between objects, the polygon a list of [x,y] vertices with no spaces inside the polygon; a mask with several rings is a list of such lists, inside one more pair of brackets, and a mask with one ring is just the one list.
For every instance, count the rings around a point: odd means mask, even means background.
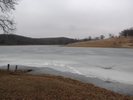
[{"label": "overcast pale grey sky above the hills", "polygon": [[108,38],[133,27],[133,0],[21,0],[12,15],[18,35]]}]

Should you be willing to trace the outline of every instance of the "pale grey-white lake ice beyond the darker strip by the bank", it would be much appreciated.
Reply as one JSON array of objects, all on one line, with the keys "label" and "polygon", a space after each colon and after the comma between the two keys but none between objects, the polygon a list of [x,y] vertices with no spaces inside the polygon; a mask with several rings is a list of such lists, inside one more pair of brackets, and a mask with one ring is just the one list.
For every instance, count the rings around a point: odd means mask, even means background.
[{"label": "pale grey-white lake ice beyond the darker strip by the bank", "polygon": [[133,49],[0,46],[0,66],[7,64],[48,67],[133,85]]}]

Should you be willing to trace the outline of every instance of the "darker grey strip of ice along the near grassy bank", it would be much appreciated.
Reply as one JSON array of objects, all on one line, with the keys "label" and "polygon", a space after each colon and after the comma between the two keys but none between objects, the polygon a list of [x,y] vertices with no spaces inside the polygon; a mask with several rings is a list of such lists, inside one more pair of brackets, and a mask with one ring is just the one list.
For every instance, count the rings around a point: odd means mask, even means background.
[{"label": "darker grey strip of ice along the near grassy bank", "polygon": [[[0,66],[0,69],[7,69],[7,66]],[[11,65],[10,70],[14,70],[15,66]],[[105,88],[110,91],[114,91],[118,94],[127,94],[133,96],[133,85],[125,83],[114,83],[111,81],[103,81],[98,78],[85,77],[84,75],[79,75],[70,72],[61,72],[48,67],[31,67],[18,65],[18,70],[33,69],[34,71],[28,72],[29,74],[50,74],[50,75],[61,75],[63,77],[69,77],[83,83],[92,83],[95,86]]]}]

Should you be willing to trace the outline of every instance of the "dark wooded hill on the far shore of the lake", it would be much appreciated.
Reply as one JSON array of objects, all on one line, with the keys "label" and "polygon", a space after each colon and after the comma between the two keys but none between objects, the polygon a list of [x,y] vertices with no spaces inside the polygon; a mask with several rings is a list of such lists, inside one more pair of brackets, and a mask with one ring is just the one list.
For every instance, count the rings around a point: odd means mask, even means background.
[{"label": "dark wooded hill on the far shore of the lake", "polygon": [[15,34],[0,34],[0,45],[62,45],[75,42],[66,37],[30,38]]}]

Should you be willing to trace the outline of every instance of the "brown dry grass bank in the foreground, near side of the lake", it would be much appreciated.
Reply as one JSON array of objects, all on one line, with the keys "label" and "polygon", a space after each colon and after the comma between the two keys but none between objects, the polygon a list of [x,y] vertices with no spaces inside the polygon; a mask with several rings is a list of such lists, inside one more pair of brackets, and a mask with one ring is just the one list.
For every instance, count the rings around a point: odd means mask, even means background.
[{"label": "brown dry grass bank in the foreground, near side of the lake", "polygon": [[133,100],[133,97],[62,76],[1,69],[0,100]]}]

